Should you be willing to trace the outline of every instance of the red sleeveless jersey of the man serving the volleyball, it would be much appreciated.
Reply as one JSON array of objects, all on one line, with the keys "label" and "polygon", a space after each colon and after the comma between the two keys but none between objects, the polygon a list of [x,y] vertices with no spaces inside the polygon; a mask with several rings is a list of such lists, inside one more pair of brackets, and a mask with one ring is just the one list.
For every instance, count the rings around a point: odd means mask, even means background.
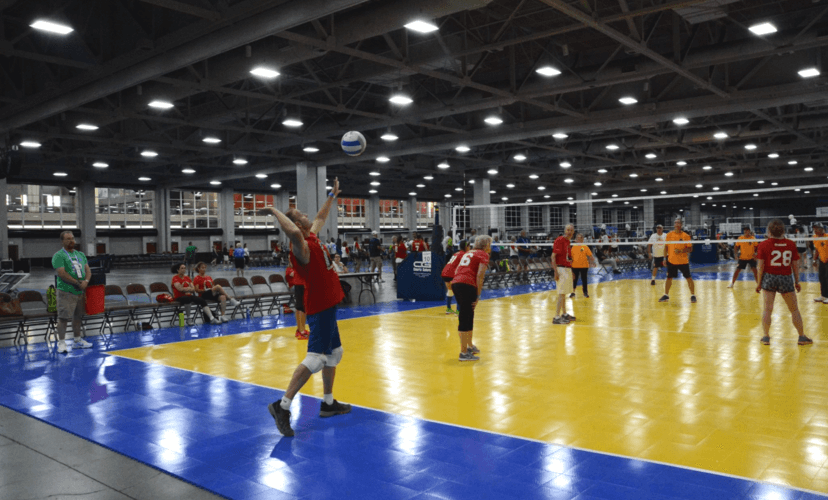
[{"label": "red sleeveless jersey of the man serving the volleyball", "polygon": [[339,304],[345,294],[325,245],[313,233],[305,241],[310,250],[308,264],[299,264],[293,253],[290,254],[290,261],[296,275],[305,282],[305,313],[310,316]]}]

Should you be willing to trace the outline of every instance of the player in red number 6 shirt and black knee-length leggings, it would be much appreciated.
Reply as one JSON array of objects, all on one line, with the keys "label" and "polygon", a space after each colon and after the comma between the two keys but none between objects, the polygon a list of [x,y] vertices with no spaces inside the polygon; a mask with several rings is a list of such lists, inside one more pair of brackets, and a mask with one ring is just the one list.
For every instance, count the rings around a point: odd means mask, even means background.
[{"label": "player in red number 6 shirt and black knee-length leggings", "polygon": [[451,280],[451,289],[457,298],[457,311],[460,334],[460,361],[477,361],[475,356],[480,350],[472,343],[474,333],[474,308],[477,300],[483,293],[483,280],[486,278],[486,269],[489,267],[489,254],[492,251],[492,237],[478,236],[474,240],[474,249],[463,254],[454,279]]}]

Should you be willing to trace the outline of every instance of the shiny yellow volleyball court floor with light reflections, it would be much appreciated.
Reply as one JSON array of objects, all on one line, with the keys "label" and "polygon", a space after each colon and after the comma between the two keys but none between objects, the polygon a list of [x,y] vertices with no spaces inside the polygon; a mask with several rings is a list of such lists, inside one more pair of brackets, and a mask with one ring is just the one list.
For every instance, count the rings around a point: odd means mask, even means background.
[{"label": "shiny yellow volleyball court floor with light reflections", "polygon": [[[777,298],[763,346],[752,282],[622,280],[567,300],[554,291],[481,301],[481,360],[457,361],[444,308],[340,320],[337,399],[450,424],[828,492],[828,306],[804,283],[812,346]],[[574,307],[573,307],[574,305]],[[574,312],[573,312],[574,310]],[[284,389],[304,358],[293,328],[118,351],[151,363]],[[303,393],[322,395],[313,377]],[[262,405],[268,402],[263,401]]]}]

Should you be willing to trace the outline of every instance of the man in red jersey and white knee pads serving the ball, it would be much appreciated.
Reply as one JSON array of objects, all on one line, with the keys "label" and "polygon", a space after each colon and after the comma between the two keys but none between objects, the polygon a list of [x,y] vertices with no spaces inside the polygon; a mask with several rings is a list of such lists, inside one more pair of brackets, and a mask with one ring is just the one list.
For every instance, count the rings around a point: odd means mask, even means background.
[{"label": "man in red jersey and white knee pads serving the ball", "polygon": [[333,398],[336,365],[342,359],[342,342],[336,324],[336,305],[345,297],[339,286],[339,276],[333,270],[331,256],[324,244],[316,237],[325,225],[334,199],[340,193],[339,179],[334,180],[328,199],[316,214],[313,223],[308,216],[292,208],[282,213],[273,207],[259,211],[259,215],[274,215],[293,246],[291,262],[296,273],[305,281],[305,312],[310,325],[308,354],[296,367],[290,384],[281,401],[268,405],[268,411],[276,420],[276,428],[286,437],[293,436],[290,426],[290,403],[311,375],[322,372],[324,398],[319,409],[320,417],[332,417],[351,411],[351,405]]}]

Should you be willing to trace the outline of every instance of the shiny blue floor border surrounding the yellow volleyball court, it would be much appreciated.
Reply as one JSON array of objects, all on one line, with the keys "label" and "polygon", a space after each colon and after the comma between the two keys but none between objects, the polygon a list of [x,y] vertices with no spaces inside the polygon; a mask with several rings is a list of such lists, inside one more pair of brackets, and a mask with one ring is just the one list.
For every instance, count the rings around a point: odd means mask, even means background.
[{"label": "shiny blue floor border surrounding the yellow volleyball court", "polygon": [[[694,278],[729,276],[698,273]],[[617,277],[649,279],[650,272],[591,276],[591,282]],[[485,291],[483,298],[548,289],[549,284],[524,285]],[[441,304],[358,306],[341,309],[339,318]],[[296,436],[282,438],[266,409],[281,391],[106,355],[108,350],[263,330],[292,321],[266,317],[117,334],[108,343],[94,338],[94,349],[68,355],[54,354],[46,344],[5,348],[0,350],[0,405],[228,498],[825,498],[366,408],[319,419],[319,400],[308,396],[294,402],[294,414],[299,414]]]}]

